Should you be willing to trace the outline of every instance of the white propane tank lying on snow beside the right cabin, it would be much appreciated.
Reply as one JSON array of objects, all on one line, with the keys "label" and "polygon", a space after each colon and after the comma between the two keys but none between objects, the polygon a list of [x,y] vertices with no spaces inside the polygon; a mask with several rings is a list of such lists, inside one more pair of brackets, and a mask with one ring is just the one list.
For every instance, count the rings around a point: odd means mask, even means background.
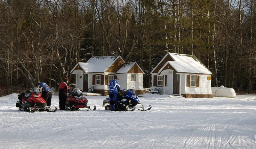
[{"label": "white propane tank lying on snow beside the right cabin", "polygon": [[212,87],[212,96],[236,98],[236,92],[233,88],[227,88],[224,86]]}]

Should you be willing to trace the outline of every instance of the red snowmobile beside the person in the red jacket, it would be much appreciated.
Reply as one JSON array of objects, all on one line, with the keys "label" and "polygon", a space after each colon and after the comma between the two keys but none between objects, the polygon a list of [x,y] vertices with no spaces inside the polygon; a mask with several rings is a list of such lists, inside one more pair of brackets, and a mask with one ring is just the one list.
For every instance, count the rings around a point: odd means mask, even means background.
[{"label": "red snowmobile beside the person in the red jacket", "polygon": [[[66,110],[75,111],[79,108],[88,108],[91,109],[90,106],[87,106],[87,99],[83,97],[83,92],[81,92],[78,88],[74,88],[72,92],[68,93],[68,97],[66,99]],[[94,106],[93,110],[96,110],[96,106]]]}]

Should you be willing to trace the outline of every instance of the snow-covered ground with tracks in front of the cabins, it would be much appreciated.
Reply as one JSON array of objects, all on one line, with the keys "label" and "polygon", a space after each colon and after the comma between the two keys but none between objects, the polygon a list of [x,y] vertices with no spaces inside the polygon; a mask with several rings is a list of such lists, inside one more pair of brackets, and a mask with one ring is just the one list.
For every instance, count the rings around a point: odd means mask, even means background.
[{"label": "snow-covered ground with tracks in front of the cabins", "polygon": [[[150,111],[111,112],[105,96],[88,97],[96,111],[26,113],[17,94],[1,97],[0,148],[255,148],[256,97],[139,98]],[[52,106],[59,106],[53,96]]]}]

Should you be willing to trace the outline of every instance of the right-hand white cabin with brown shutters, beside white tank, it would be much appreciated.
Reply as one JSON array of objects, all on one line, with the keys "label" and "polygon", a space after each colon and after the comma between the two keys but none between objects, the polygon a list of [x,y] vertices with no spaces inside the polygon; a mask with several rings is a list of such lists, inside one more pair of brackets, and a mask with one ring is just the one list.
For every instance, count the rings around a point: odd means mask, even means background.
[{"label": "right-hand white cabin with brown shutters, beside white tank", "polygon": [[151,74],[152,88],[162,88],[161,94],[212,98],[212,73],[196,56],[167,53]]}]

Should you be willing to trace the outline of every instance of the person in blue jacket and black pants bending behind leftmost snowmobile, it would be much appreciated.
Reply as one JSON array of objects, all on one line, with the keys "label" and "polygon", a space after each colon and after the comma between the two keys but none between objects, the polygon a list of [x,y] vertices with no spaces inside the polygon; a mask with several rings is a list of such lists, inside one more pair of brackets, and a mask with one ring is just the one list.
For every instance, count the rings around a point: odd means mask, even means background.
[{"label": "person in blue jacket and black pants bending behind leftmost snowmobile", "polygon": [[42,97],[47,103],[47,106],[51,106],[52,102],[52,90],[51,88],[44,82],[38,82],[39,91],[42,93]]}]

